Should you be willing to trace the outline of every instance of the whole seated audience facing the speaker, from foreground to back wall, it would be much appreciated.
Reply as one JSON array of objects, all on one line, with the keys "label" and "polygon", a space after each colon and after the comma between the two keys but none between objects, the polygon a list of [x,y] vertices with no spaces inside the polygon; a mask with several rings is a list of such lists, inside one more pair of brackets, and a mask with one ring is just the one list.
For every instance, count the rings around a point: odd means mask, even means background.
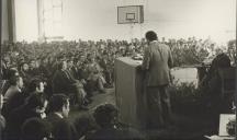
[{"label": "whole seated audience facing the speaker, from foreground to back wall", "polygon": [[[169,45],[172,50],[173,46],[189,47],[200,42],[181,39],[162,43]],[[80,131],[80,125],[76,125],[75,128],[67,120],[69,104],[77,106],[79,110],[87,110],[87,105],[92,102],[91,97],[94,94],[105,93],[106,88],[113,88],[115,59],[143,54],[144,47],[145,39],[134,39],[133,43],[4,43],[0,71],[3,79],[0,86],[0,131],[4,135],[0,133],[0,137],[5,140],[72,140],[81,136],[84,136],[84,139],[95,139],[98,135],[100,137],[108,130],[115,136],[127,135],[127,131],[114,128],[114,117],[109,117],[109,114],[116,114],[116,109],[105,105],[94,113],[99,125],[97,131],[87,136],[86,128]],[[101,124],[101,118],[106,119],[103,120],[105,124]],[[50,129],[44,129],[48,125]]]}]

